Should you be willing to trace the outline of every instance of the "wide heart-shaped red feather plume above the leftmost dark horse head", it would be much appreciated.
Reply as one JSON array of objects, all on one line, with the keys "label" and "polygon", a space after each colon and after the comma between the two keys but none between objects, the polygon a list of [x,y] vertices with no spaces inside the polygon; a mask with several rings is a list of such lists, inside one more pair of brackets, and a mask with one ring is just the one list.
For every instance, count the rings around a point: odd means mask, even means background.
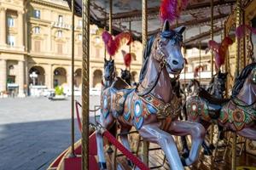
[{"label": "wide heart-shaped red feather plume above the leftmost dark horse head", "polygon": [[113,56],[117,53],[125,40],[128,41],[126,45],[130,45],[133,41],[129,32],[121,32],[119,35],[113,38],[112,35],[108,33],[108,31],[103,31],[102,39],[110,56]]}]

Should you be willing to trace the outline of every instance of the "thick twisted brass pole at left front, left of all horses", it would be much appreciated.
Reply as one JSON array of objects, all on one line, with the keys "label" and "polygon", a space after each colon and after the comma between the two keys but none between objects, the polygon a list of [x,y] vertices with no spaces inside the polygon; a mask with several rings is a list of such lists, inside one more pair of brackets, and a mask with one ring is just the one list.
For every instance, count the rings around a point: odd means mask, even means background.
[{"label": "thick twisted brass pole at left front, left of all horses", "polygon": [[83,0],[82,169],[89,169],[90,0]]}]

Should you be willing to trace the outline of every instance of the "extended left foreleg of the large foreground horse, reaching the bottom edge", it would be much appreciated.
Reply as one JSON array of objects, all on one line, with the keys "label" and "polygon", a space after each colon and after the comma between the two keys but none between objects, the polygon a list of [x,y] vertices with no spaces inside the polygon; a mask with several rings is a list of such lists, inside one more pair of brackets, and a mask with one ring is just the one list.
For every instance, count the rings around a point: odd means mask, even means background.
[{"label": "extended left foreleg of the large foreground horse, reaching the bottom edge", "polygon": [[183,165],[177,152],[177,146],[172,135],[160,129],[159,123],[143,125],[138,131],[143,139],[159,144],[164,150],[169,166],[172,170],[182,170]]}]

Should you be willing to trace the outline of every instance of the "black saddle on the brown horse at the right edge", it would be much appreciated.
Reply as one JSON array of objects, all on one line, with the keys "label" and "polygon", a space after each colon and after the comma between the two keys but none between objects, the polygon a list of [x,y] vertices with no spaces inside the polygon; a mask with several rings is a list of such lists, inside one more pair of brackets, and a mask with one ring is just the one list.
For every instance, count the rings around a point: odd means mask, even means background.
[{"label": "black saddle on the brown horse at the right edge", "polygon": [[230,101],[230,99],[215,98],[212,94],[209,94],[204,88],[199,88],[197,94],[200,98],[207,101],[209,115],[212,119],[217,119],[220,114],[222,105]]}]

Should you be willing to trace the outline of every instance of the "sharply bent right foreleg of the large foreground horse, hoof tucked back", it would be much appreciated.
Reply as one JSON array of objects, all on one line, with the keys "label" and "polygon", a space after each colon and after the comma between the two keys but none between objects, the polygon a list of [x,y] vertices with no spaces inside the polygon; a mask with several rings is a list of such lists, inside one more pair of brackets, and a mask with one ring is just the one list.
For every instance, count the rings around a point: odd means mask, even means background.
[{"label": "sharply bent right foreleg of the large foreground horse, hoof tucked back", "polygon": [[193,164],[198,159],[201,144],[206,134],[206,129],[197,122],[174,121],[170,125],[168,131],[178,136],[191,135],[192,146],[189,152],[189,157],[182,159],[182,161],[184,166]]}]

